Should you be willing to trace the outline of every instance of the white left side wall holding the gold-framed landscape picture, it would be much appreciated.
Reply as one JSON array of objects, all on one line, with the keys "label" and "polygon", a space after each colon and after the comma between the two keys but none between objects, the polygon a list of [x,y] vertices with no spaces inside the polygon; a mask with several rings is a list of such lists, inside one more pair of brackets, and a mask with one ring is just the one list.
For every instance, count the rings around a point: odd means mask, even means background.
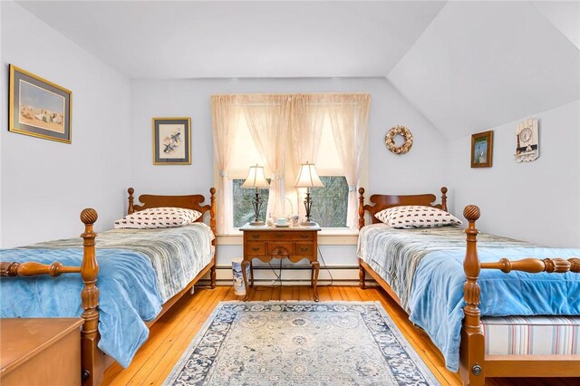
[{"label": "white left side wall holding the gold-framed landscape picture", "polygon": [[[124,212],[131,174],[129,80],[13,2],[2,10],[1,246],[82,232],[83,207],[97,230]],[[8,64],[73,92],[73,144],[8,132]]]}]

